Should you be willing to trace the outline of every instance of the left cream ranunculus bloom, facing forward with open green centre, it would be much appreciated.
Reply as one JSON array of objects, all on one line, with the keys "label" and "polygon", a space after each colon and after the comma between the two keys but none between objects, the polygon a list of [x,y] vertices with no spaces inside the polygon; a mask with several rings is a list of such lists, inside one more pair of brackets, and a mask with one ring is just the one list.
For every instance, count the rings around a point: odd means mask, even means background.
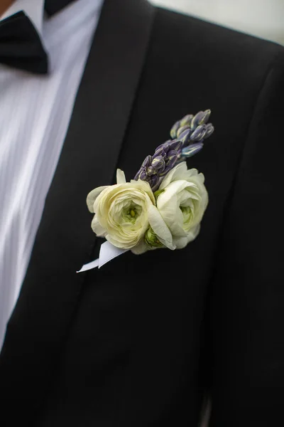
[{"label": "left cream ranunculus bloom, facing forward with open green centre", "polygon": [[151,227],[163,245],[175,249],[172,234],[155,206],[148,182],[140,179],[126,182],[120,169],[116,180],[117,184],[98,187],[87,196],[88,209],[95,214],[94,233],[107,238],[117,248],[143,253],[148,250],[144,236]]}]

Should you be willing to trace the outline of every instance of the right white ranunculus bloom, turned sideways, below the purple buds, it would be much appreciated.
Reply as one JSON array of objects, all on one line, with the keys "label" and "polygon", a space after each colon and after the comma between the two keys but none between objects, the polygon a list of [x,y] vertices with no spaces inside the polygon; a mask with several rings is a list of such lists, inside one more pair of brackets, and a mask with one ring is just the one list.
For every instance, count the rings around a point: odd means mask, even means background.
[{"label": "right white ranunculus bloom, turned sideways, below the purple buds", "polygon": [[187,169],[187,164],[182,162],[165,176],[159,192],[157,208],[173,236],[173,246],[184,248],[197,237],[207,208],[204,175],[197,169]]}]

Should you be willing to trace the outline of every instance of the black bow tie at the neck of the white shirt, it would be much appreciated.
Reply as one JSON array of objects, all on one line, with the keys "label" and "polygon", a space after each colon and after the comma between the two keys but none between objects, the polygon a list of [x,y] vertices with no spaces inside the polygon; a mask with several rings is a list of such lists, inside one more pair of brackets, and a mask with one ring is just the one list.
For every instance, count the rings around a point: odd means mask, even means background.
[{"label": "black bow tie at the neck of the white shirt", "polygon": [[[53,15],[73,0],[45,0]],[[31,19],[23,11],[0,22],[0,63],[31,73],[48,73],[48,55]]]}]

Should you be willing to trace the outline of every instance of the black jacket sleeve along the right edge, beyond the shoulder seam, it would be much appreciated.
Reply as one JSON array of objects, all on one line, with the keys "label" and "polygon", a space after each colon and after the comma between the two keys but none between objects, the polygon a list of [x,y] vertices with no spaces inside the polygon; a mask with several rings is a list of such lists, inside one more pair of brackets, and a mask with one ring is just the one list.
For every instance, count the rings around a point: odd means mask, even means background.
[{"label": "black jacket sleeve along the right edge, beyond the shoulder seam", "polygon": [[281,49],[254,105],[208,291],[209,427],[284,423],[283,70]]}]

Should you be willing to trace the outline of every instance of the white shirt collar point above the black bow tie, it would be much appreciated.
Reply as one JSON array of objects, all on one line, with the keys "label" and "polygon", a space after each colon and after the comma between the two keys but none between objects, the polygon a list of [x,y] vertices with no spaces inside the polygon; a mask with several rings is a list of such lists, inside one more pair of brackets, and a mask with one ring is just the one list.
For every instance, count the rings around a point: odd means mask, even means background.
[{"label": "white shirt collar point above the black bow tie", "polygon": [[2,19],[8,18],[13,14],[16,14],[19,11],[25,12],[25,14],[33,22],[35,28],[38,30],[40,36],[42,36],[44,0],[16,0],[9,7],[9,9],[7,9],[2,16],[0,16],[0,21],[2,21]]}]

